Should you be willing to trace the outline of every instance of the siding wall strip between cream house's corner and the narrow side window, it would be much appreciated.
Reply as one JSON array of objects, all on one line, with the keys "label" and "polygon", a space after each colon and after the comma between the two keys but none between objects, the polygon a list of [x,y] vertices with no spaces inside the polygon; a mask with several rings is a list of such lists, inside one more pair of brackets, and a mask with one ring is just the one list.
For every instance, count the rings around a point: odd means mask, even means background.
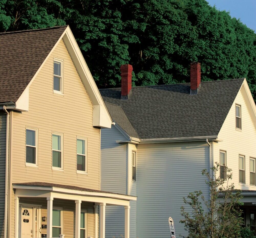
[{"label": "siding wall strip between cream house's corner and the narrow side window", "polygon": [[[101,190],[127,194],[127,140],[112,125],[111,129],[101,130]],[[105,237],[124,235],[124,207],[106,206]]]}]

